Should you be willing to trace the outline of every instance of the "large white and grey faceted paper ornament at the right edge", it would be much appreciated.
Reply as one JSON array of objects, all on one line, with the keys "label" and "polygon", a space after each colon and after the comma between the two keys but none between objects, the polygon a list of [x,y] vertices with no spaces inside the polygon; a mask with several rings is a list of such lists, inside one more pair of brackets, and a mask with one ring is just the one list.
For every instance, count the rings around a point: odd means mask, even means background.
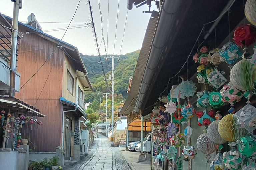
[{"label": "large white and grey faceted paper ornament at the right edge", "polygon": [[252,105],[247,104],[238,112],[235,113],[237,118],[237,124],[240,128],[245,128],[249,132],[252,132],[255,128],[250,126],[249,122],[256,116],[256,108]]}]

